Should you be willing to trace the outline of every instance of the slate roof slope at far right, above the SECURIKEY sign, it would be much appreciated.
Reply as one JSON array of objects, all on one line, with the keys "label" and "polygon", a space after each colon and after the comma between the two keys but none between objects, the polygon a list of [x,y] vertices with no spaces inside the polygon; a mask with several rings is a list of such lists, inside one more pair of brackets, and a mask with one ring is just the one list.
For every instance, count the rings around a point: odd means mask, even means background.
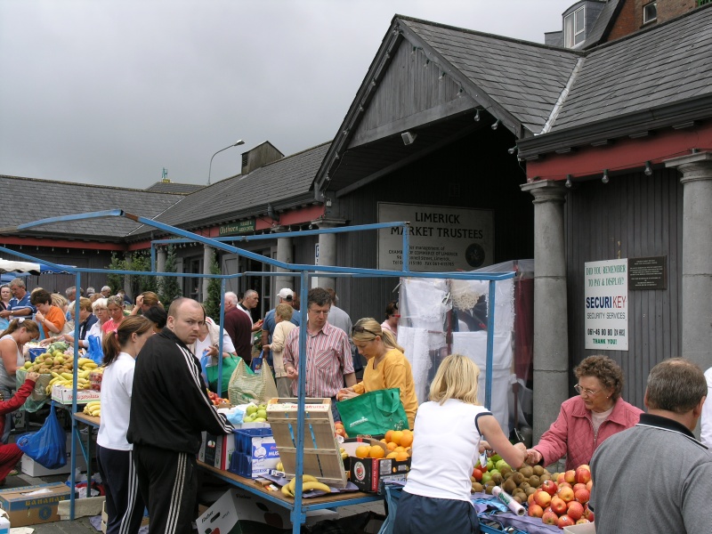
[{"label": "slate roof slope at far right, above the SECURIKEY sign", "polygon": [[712,9],[587,53],[552,132],[712,93]]}]

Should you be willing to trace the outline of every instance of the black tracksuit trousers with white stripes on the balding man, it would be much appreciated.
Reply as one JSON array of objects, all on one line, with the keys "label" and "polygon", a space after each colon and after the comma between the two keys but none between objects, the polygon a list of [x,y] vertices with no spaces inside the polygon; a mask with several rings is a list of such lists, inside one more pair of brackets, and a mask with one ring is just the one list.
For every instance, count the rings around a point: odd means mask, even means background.
[{"label": "black tracksuit trousers with white stripes on the balding man", "polygon": [[134,444],[134,465],[149,534],[190,534],[198,498],[195,454]]}]

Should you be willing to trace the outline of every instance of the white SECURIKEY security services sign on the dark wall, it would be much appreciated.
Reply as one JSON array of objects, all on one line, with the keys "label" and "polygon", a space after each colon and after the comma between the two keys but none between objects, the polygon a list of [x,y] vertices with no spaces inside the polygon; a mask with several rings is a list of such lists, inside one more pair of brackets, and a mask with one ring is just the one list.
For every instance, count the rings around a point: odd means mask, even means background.
[{"label": "white SECURIKEY security services sign on the dark wall", "polygon": [[628,261],[586,263],[586,348],[628,350]]}]

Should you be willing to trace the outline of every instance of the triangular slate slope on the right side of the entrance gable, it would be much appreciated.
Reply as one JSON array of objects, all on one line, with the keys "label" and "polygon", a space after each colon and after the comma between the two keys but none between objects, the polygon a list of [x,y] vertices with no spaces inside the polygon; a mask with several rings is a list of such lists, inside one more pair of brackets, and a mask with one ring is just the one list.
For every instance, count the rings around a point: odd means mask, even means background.
[{"label": "triangular slate slope on the right side of the entrance gable", "polygon": [[582,53],[396,15],[531,133],[546,123]]}]

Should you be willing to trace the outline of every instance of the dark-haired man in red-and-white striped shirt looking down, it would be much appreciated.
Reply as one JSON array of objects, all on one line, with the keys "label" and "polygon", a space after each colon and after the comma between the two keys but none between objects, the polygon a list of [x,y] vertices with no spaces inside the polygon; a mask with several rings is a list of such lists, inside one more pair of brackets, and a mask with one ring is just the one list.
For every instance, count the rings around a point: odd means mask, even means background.
[{"label": "dark-haired man in red-and-white striped shirt looking down", "polygon": [[[336,393],[346,386],[356,384],[349,337],[341,328],[328,324],[331,296],[325,289],[315,287],[307,295],[306,324],[306,376],[304,377],[307,397],[329,397],[331,413],[335,421],[340,421],[336,411]],[[301,328],[301,327],[300,327]],[[287,376],[293,380],[292,392],[297,393],[299,367],[299,329],[295,328],[287,336],[282,359]]]}]

